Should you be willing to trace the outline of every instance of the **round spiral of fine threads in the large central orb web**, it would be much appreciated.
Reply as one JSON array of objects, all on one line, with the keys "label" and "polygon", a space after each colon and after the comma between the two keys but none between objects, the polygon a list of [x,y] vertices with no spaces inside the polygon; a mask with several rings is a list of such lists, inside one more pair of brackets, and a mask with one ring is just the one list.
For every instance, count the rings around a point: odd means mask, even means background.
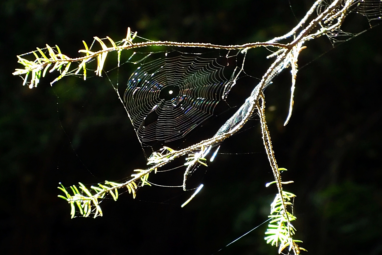
[{"label": "round spiral of fine threads in the large central orb web", "polygon": [[203,54],[155,54],[157,59],[133,72],[123,99],[142,142],[170,142],[212,116],[235,85],[240,70],[236,68],[227,78],[225,66]]}]

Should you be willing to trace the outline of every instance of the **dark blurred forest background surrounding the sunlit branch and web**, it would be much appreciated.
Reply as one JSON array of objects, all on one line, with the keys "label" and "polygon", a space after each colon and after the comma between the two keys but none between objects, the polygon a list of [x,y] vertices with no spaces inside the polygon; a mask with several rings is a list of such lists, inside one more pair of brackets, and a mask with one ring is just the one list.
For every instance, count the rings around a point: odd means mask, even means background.
[{"label": "dark blurred forest background surrounding the sunlit branch and web", "polygon": [[[298,19],[311,4],[291,0]],[[42,80],[30,90],[11,73],[21,67],[17,54],[48,43],[79,56],[82,40],[118,41],[128,26],[152,40],[264,41],[289,31],[297,23],[293,12],[286,0],[3,0],[0,253],[211,255],[265,221],[276,189],[265,188],[273,177],[255,120],[222,144],[220,152],[230,154],[199,168],[205,186],[185,208],[192,191],[145,186],[136,199],[126,193],[117,202],[105,199],[103,217],[70,219],[70,206],[57,198],[59,181],[119,180],[145,167],[142,150],[104,78],[67,77],[53,87]],[[352,24],[362,29],[359,20]],[[297,195],[296,239],[311,255],[382,254],[381,29],[332,50],[325,38],[307,44],[300,67],[330,51],[299,70],[286,127],[288,71],[266,90],[276,157],[288,169],[283,180],[295,181],[285,189]],[[267,52],[259,52],[246,62],[249,74],[267,68]],[[159,184],[180,183],[157,175],[151,178]],[[276,254],[265,229],[217,254]]]}]

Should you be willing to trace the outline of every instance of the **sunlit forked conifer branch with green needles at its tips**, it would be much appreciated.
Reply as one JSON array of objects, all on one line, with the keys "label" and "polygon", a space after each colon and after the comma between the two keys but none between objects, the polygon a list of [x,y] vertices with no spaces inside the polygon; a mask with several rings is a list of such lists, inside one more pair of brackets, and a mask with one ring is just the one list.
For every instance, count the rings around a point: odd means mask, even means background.
[{"label": "sunlit forked conifer branch with green needles at its tips", "polygon": [[[278,168],[276,162],[270,133],[265,120],[265,96],[263,91],[272,83],[272,79],[280,74],[282,70],[291,67],[291,97],[289,113],[285,121],[286,125],[290,120],[292,113],[293,93],[295,91],[298,72],[298,56],[299,53],[306,48],[304,43],[325,34],[329,36],[331,33],[336,31],[340,32],[341,25],[346,15],[353,9],[360,8],[363,5],[366,6],[367,1],[373,2],[373,0],[333,0],[328,4],[325,1],[317,0],[308,10],[304,18],[290,32],[263,43],[257,42],[230,46],[205,43],[177,43],[168,41],[146,41],[135,43],[134,39],[136,38],[137,32],[131,33],[130,28],[128,28],[126,38],[119,42],[115,42],[109,37],[104,39],[94,37],[95,41],[97,41],[101,47],[99,51],[92,51],[92,49],[89,48],[83,41],[85,49],[81,49],[79,52],[84,53],[85,56],[70,58],[62,54],[58,46],[50,47],[48,45],[45,49],[37,48],[36,51],[29,52],[33,54],[29,55],[34,57],[34,60],[24,58],[23,56],[26,54],[18,56],[18,62],[23,65],[23,69],[16,69],[13,74],[20,76],[23,75],[23,85],[29,83],[29,88],[32,88],[37,87],[40,78],[44,77],[48,70],[49,72],[60,72],[60,75],[58,75],[58,77],[50,83],[51,85],[67,75],[82,75],[84,80],[86,80],[86,65],[95,59],[97,59],[97,69],[95,70],[95,75],[102,76],[108,53],[113,51],[118,53],[117,65],[119,67],[122,51],[149,46],[200,47],[209,49],[241,50],[242,53],[255,47],[275,47],[277,49],[274,54],[269,56],[276,57],[276,59],[262,76],[261,81],[254,88],[251,95],[247,98],[239,110],[236,111],[236,113],[233,114],[233,116],[228,119],[222,127],[220,127],[215,136],[181,150],[163,147],[161,150],[154,152],[149,157],[147,160],[147,165],[149,165],[148,168],[143,170],[134,170],[134,174],[131,175],[131,179],[123,183],[105,181],[103,184],[91,186],[90,188],[86,188],[85,185],[79,183],[79,189],[74,185],[70,187],[73,195],[71,195],[71,193],[69,193],[64,186],[61,185],[61,187],[58,187],[65,193],[65,196],[60,195],[59,197],[65,199],[71,205],[71,216],[75,216],[76,206],[78,207],[79,213],[84,217],[89,216],[91,212],[94,212],[94,217],[99,215],[102,216],[102,210],[99,206],[99,199],[102,199],[107,194],[110,194],[114,200],[117,200],[118,190],[125,187],[135,198],[138,186],[150,185],[148,177],[151,172],[154,171],[156,173],[158,168],[166,165],[174,159],[177,159],[178,157],[189,154],[189,157],[186,159],[185,163],[185,165],[188,166],[183,181],[183,188],[185,189],[186,178],[191,167],[194,167],[197,164],[206,165],[205,156],[209,153],[211,147],[238,132],[244,124],[246,124],[248,119],[253,116],[255,111],[257,111],[260,116],[264,148],[269,159],[270,167],[272,168],[272,172],[274,174],[274,183],[276,183],[278,189],[275,200],[271,204],[271,213],[269,216],[271,221],[268,226],[268,230],[265,233],[267,235],[265,239],[268,243],[277,245],[279,247],[279,253],[289,247],[289,251],[293,250],[295,254],[298,254],[300,250],[303,250],[303,248],[299,248],[296,244],[296,242],[299,241],[292,238],[295,234],[295,228],[291,224],[291,221],[294,221],[296,217],[287,210],[287,207],[291,206],[291,199],[293,199],[295,195],[283,191],[282,188],[282,184],[290,183],[291,181],[282,182],[281,180],[280,170],[286,169]],[[314,11],[317,11],[316,17],[312,17]],[[367,12],[365,11],[362,15],[367,16]],[[309,23],[305,25],[308,21]],[[291,36],[294,36],[294,38],[291,39],[289,43],[278,43],[279,41],[286,40]],[[109,46],[107,46],[107,44]],[[77,63],[78,65],[74,67],[73,63]]]}]

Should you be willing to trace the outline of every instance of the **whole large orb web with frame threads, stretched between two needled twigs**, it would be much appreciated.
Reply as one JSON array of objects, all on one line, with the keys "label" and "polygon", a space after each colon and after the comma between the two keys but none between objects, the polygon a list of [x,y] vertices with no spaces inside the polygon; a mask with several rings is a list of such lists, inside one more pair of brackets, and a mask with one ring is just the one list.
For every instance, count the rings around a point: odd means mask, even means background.
[{"label": "whole large orb web with frame threads, stretched between two needled twigs", "polygon": [[[210,138],[223,123],[207,129],[211,122],[207,120],[241,105],[243,96],[232,100],[229,94],[238,80],[251,77],[243,70],[246,53],[167,49],[126,52],[120,66],[105,72],[125,106],[146,158],[169,143],[176,148],[186,141],[190,145],[199,142],[202,134]],[[131,74],[129,78],[121,76],[125,73]],[[245,86],[252,90],[254,85]],[[199,132],[197,137],[193,137],[195,132],[189,135],[201,126],[206,132]]]}]

